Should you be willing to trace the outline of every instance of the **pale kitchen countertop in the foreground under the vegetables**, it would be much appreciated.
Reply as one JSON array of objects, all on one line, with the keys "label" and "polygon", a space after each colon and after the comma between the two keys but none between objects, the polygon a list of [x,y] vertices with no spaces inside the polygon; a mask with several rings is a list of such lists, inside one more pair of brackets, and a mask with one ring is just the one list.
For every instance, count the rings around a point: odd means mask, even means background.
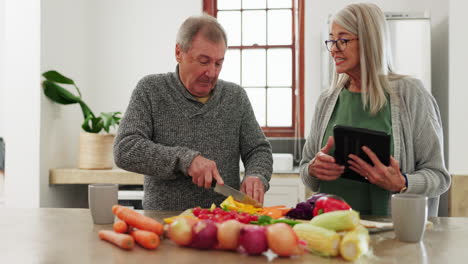
[{"label": "pale kitchen countertop in the foreground under the vegetables", "polygon": [[[177,212],[144,211],[161,220]],[[468,257],[468,218],[432,218],[422,243],[402,243],[392,231],[371,235],[372,255],[359,263],[464,263]],[[18,225],[18,223],[21,223]],[[156,250],[139,246],[125,251],[99,240],[97,232],[112,225],[94,225],[88,209],[0,210],[1,263],[267,263],[266,256],[197,250],[164,239]],[[349,263],[340,258],[306,254],[275,258],[274,263]]]}]

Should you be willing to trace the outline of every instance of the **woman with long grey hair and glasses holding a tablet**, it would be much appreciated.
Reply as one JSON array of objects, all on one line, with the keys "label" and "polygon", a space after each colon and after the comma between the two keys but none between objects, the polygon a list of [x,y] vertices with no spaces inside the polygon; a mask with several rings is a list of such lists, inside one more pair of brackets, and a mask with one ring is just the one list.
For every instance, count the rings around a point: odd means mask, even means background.
[{"label": "woman with long grey hair and glasses holding a tablet", "polygon": [[[422,194],[429,197],[429,215],[436,216],[439,196],[450,186],[439,109],[421,81],[392,71],[383,12],[369,3],[345,7],[333,17],[325,44],[336,73],[318,99],[304,146],[304,184],[339,195],[366,215],[388,215],[392,193]],[[363,147],[372,162],[350,155],[345,170],[333,157],[335,125],[390,134],[390,164]],[[351,170],[367,181],[347,178]]]}]

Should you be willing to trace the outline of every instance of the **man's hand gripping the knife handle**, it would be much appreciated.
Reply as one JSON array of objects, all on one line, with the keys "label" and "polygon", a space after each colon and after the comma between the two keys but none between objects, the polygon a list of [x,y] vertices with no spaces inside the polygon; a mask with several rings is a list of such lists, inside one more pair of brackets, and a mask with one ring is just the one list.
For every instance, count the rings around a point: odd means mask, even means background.
[{"label": "man's hand gripping the knife handle", "polygon": [[196,156],[190,166],[187,169],[187,173],[192,177],[192,182],[198,185],[198,187],[205,187],[206,189],[211,188],[213,179],[218,184],[224,184],[223,179],[219,175],[216,162],[202,157],[201,155]]}]

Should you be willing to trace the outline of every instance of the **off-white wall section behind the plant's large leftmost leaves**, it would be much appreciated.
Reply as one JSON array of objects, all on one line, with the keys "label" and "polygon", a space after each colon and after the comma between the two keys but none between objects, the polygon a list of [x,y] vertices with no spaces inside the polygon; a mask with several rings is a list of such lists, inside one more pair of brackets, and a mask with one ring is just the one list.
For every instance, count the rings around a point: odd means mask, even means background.
[{"label": "off-white wall section behind the plant's large leftmost leaves", "polygon": [[[41,73],[58,70],[85,95],[93,91],[90,1],[41,1]],[[76,93],[74,89],[70,90]],[[49,169],[76,167],[83,116],[79,105],[58,105],[41,94],[41,207],[87,207],[87,186],[49,186]]]}]

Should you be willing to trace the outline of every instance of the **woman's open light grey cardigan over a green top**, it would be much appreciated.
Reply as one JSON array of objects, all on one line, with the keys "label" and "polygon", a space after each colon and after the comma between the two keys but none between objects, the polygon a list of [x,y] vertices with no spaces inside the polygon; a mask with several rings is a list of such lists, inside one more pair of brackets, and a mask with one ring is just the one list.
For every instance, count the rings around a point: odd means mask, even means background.
[{"label": "woman's open light grey cardigan over a green top", "polygon": [[[444,164],[442,123],[435,99],[421,81],[401,78],[391,81],[390,94],[394,157],[408,177],[406,193],[429,197],[429,215],[437,216],[439,196],[450,187]],[[343,88],[342,88],[343,89]],[[309,175],[308,164],[320,151],[322,139],[341,89],[324,91],[318,99],[310,135],[300,163],[302,181],[318,191],[320,180]]]}]

